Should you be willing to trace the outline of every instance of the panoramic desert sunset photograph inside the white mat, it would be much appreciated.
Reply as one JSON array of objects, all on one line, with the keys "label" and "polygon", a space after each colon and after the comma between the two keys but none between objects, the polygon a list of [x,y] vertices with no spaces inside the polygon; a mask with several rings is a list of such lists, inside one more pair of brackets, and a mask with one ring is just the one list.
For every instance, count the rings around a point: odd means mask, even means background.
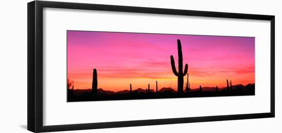
[{"label": "panoramic desert sunset photograph inside the white mat", "polygon": [[66,82],[68,102],[255,95],[255,38],[67,31]]}]

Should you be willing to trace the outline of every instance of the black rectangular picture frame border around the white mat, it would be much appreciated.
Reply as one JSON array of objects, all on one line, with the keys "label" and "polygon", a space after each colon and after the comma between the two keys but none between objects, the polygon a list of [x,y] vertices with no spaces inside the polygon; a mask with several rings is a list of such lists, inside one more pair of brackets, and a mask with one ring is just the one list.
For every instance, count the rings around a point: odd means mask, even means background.
[{"label": "black rectangular picture frame border around the white mat", "polygon": [[[208,12],[192,10],[176,10],[161,8],[145,8],[130,6],[113,6],[81,3],[64,3],[64,2],[47,2],[33,1],[28,6],[28,130],[33,132],[48,131],[65,131],[81,130],[96,128],[128,127],[128,126],[145,126],[159,124],[176,124],[190,122],[206,121],[224,121],[239,119],[270,118],[275,116],[275,16],[240,14],[225,12]],[[269,20],[271,24],[271,86],[270,86],[270,112],[256,114],[236,114],[221,116],[204,116],[204,117],[187,117],[187,118],[169,118],[169,119],[152,119],[152,120],[134,120],[119,122],[100,122],[100,123],[82,123],[43,126],[43,8],[61,8],[61,9],[83,9],[98,11],[115,11],[115,12],[133,12],[133,13],[151,13],[167,15],[185,15],[185,16],[204,16],[217,18],[238,18]]]}]

